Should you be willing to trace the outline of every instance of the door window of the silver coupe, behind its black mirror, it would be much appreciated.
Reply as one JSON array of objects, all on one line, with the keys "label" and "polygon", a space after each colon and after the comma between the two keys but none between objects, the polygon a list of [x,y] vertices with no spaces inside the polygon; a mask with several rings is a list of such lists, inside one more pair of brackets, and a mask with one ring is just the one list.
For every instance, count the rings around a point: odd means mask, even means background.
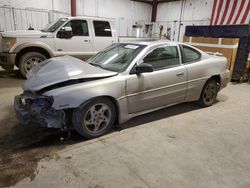
[{"label": "door window of the silver coupe, behind its black mirror", "polygon": [[154,70],[159,70],[180,65],[180,58],[176,46],[164,46],[150,52],[143,62],[151,64]]}]

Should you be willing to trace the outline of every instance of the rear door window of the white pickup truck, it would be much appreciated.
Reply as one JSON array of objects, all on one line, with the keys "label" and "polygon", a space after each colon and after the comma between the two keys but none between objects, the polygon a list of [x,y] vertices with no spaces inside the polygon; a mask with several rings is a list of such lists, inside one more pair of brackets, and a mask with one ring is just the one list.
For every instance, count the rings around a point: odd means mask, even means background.
[{"label": "rear door window of the white pickup truck", "polygon": [[93,21],[95,36],[97,37],[112,37],[111,27],[106,21]]}]

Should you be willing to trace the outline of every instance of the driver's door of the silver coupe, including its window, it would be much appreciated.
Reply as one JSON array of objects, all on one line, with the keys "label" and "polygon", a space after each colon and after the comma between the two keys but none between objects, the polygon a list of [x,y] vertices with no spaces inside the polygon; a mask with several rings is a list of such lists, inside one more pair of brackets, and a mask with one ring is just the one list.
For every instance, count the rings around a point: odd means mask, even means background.
[{"label": "driver's door of the silver coupe, including its window", "polygon": [[150,50],[143,63],[151,64],[150,73],[131,74],[126,80],[130,114],[183,102],[187,90],[187,70],[181,64],[177,46]]}]

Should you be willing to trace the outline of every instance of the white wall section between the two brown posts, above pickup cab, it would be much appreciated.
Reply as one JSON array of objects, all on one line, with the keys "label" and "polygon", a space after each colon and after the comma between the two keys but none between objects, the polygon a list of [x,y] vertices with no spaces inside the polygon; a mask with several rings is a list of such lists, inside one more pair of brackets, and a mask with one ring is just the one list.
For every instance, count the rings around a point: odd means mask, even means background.
[{"label": "white wall section between the two brown posts, above pickup cab", "polygon": [[131,36],[135,22],[148,23],[152,6],[130,0],[77,0],[77,14],[115,18],[120,36]]}]

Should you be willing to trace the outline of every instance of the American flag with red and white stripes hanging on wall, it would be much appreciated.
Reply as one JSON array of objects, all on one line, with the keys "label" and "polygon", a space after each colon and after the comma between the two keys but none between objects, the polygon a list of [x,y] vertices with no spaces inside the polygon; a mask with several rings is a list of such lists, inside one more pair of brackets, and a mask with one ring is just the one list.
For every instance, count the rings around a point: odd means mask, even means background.
[{"label": "American flag with red and white stripes hanging on wall", "polygon": [[250,0],[214,0],[210,25],[248,24]]}]

